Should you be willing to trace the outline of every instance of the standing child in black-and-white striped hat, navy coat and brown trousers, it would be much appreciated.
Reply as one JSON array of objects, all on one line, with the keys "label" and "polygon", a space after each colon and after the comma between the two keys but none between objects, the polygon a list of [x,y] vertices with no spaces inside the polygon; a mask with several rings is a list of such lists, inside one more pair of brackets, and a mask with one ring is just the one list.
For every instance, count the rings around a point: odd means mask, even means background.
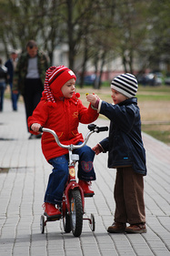
[{"label": "standing child in black-and-white striped hat, navy coat and brown trousers", "polygon": [[[94,148],[95,154],[108,151],[108,168],[117,169],[115,179],[115,222],[110,233],[145,233],[144,176],[145,148],[141,136],[140,110],[137,106],[137,80],[132,74],[115,77],[109,104],[96,95],[89,101],[100,114],[110,119],[108,138]],[[126,223],[130,226],[126,227]]]}]

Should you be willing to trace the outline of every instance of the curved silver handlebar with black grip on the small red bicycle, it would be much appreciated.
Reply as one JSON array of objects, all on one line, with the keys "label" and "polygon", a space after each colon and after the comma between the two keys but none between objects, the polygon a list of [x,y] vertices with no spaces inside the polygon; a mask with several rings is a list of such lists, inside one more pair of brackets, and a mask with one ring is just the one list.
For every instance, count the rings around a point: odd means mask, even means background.
[{"label": "curved silver handlebar with black grip on the small red bicycle", "polygon": [[49,133],[51,133],[55,137],[55,141],[56,141],[56,143],[58,144],[59,147],[67,148],[67,149],[74,149],[74,148],[83,148],[85,146],[85,144],[87,143],[88,138],[90,138],[90,136],[92,135],[92,133],[94,133],[94,132],[99,133],[101,131],[107,131],[108,127],[100,127],[99,128],[95,124],[90,124],[90,125],[88,125],[88,129],[90,131],[86,134],[85,140],[84,140],[84,142],[81,145],[73,145],[73,144],[71,144],[71,145],[64,145],[64,144],[62,144],[53,129],[42,128],[41,127],[41,128],[39,128],[39,131],[40,132],[49,132]]}]

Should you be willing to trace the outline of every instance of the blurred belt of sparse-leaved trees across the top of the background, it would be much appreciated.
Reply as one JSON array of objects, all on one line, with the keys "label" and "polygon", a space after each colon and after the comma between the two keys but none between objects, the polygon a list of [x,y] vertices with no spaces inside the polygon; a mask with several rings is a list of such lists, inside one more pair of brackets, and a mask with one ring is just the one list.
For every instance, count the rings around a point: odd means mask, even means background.
[{"label": "blurred belt of sparse-leaved trees across the top of the background", "polygon": [[[168,0],[0,0],[0,41],[7,57],[10,48],[25,50],[35,39],[51,64],[55,47],[67,44],[69,67],[83,85],[88,60],[99,77],[113,54],[131,73],[138,58],[142,68],[162,59],[169,63],[169,10]],[[79,67],[77,56],[83,56]]]}]

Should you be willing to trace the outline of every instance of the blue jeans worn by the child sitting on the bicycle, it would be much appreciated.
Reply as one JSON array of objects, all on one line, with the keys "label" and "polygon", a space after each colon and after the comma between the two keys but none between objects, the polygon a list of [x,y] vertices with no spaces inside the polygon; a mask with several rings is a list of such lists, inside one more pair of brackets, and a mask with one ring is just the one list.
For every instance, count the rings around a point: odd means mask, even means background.
[{"label": "blue jeans worn by the child sitting on the bicycle", "polygon": [[[74,149],[73,153],[79,155],[78,179],[86,181],[95,180],[95,170],[93,166],[95,152],[85,145],[83,148]],[[54,169],[48,179],[47,189],[45,191],[45,202],[60,204],[68,179],[68,154],[50,159],[49,163],[53,165]]]}]

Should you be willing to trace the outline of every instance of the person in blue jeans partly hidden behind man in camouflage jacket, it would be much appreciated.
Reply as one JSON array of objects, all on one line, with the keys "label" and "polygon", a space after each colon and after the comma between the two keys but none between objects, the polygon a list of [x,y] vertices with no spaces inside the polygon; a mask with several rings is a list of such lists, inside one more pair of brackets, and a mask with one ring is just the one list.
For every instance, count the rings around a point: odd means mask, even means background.
[{"label": "person in blue jeans partly hidden behind man in camouflage jacket", "polygon": [[17,100],[19,97],[19,92],[16,94],[13,93],[13,77],[15,73],[16,62],[17,62],[17,53],[13,51],[10,55],[10,58],[5,62],[5,67],[7,67],[8,83],[11,90],[12,108],[14,111],[17,111]]}]

